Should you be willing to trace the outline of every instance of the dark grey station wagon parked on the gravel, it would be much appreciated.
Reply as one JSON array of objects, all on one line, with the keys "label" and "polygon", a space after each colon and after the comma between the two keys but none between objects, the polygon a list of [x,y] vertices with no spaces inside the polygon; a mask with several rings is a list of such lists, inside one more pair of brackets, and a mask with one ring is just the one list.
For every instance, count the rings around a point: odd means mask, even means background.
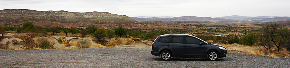
[{"label": "dark grey station wagon parked on the gravel", "polygon": [[164,34],[152,43],[151,54],[162,60],[174,58],[207,58],[216,61],[226,57],[226,47],[207,43],[189,34]]}]

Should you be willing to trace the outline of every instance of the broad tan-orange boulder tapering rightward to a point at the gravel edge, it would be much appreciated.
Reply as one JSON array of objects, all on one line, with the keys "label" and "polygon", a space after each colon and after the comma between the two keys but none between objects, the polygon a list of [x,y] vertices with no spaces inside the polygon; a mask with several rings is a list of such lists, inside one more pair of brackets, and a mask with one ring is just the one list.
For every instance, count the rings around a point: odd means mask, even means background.
[{"label": "broad tan-orange boulder tapering rightward to a point at the gravel edge", "polygon": [[69,43],[71,46],[76,46],[79,48],[99,48],[99,47],[106,47],[101,44],[95,43],[92,40],[86,39],[73,39]]}]

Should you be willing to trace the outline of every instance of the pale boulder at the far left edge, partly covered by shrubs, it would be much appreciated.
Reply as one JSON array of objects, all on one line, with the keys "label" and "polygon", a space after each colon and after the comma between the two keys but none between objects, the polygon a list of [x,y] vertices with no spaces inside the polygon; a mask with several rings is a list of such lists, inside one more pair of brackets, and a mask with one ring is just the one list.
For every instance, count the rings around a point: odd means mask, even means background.
[{"label": "pale boulder at the far left edge, partly covered by shrubs", "polygon": [[4,38],[2,39],[2,41],[0,41],[1,44],[6,44],[6,42],[10,42],[10,44],[8,44],[8,48],[10,49],[23,49],[24,45],[21,44],[14,44],[12,43],[12,40],[16,40],[17,42],[21,42],[23,40],[19,39],[19,38]]}]

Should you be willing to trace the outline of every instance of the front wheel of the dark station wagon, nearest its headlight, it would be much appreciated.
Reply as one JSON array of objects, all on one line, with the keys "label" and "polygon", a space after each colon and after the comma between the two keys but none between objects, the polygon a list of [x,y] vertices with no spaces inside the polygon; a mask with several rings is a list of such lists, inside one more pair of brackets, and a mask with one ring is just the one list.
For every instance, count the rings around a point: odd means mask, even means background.
[{"label": "front wheel of the dark station wagon, nearest its headlight", "polygon": [[207,59],[208,59],[209,61],[216,61],[216,60],[218,60],[218,58],[219,58],[219,54],[218,54],[218,52],[216,52],[216,51],[214,51],[214,50],[209,51],[209,52],[207,53]]}]

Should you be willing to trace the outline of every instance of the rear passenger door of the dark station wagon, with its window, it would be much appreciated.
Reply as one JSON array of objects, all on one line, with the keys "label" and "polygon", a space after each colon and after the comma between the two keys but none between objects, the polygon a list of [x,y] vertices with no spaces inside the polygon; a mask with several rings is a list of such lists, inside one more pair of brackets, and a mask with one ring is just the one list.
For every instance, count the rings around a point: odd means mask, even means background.
[{"label": "rear passenger door of the dark station wagon, with its window", "polygon": [[185,55],[185,44],[183,36],[173,36],[171,43],[168,43],[172,50],[173,57],[183,57]]}]

